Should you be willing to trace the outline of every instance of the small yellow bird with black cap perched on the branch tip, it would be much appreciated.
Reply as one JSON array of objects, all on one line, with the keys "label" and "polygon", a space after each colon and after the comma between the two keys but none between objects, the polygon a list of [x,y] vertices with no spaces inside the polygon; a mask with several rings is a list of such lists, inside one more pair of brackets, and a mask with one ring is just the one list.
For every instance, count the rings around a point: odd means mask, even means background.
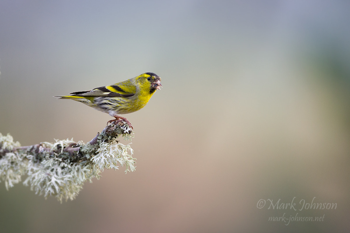
[{"label": "small yellow bird with black cap perched on the branch tip", "polygon": [[160,81],[161,78],[158,75],[148,72],[110,86],[55,97],[82,102],[116,118],[108,121],[107,124],[125,121],[133,129],[130,121],[118,115],[135,112],[145,107],[155,91],[162,87]]}]

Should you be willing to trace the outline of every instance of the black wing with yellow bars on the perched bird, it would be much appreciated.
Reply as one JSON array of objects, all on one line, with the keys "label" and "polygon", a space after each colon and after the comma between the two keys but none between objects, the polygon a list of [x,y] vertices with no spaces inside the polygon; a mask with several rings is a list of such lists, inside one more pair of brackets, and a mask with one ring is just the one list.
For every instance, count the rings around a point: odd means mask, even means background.
[{"label": "black wing with yellow bars on the perched bird", "polygon": [[110,85],[104,87],[98,87],[85,92],[73,92],[70,93],[74,96],[109,96],[109,97],[130,97],[135,95],[134,93],[126,92],[117,85]]}]

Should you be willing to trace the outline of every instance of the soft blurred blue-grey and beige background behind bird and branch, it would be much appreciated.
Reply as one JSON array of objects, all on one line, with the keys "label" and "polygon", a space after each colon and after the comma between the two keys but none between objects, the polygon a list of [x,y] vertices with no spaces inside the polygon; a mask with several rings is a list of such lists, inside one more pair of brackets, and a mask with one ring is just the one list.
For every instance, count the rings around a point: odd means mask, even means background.
[{"label": "soft blurred blue-grey and beige background behind bird and branch", "polygon": [[[62,204],[2,182],[0,232],[349,231],[349,10],[340,0],[1,1],[0,132],[21,145],[87,142],[111,119],[52,96],[144,72],[163,88],[124,115],[135,172],[105,170]],[[268,201],[294,197],[297,210]],[[313,198],[336,209],[299,210]],[[269,221],[283,214],[324,218]]]}]

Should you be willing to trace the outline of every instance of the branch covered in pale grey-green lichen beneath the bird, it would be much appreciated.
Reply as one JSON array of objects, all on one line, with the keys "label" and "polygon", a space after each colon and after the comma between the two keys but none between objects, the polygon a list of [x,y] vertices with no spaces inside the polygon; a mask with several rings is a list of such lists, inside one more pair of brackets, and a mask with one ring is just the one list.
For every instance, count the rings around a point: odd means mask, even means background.
[{"label": "branch covered in pale grey-green lichen beneath the bird", "polygon": [[108,125],[89,143],[56,140],[32,146],[21,146],[12,136],[0,133],[0,182],[6,189],[23,182],[38,195],[73,200],[86,181],[99,178],[104,169],[125,166],[125,172],[135,170],[135,158],[130,144],[116,139],[131,139],[132,129],[124,122]]}]

